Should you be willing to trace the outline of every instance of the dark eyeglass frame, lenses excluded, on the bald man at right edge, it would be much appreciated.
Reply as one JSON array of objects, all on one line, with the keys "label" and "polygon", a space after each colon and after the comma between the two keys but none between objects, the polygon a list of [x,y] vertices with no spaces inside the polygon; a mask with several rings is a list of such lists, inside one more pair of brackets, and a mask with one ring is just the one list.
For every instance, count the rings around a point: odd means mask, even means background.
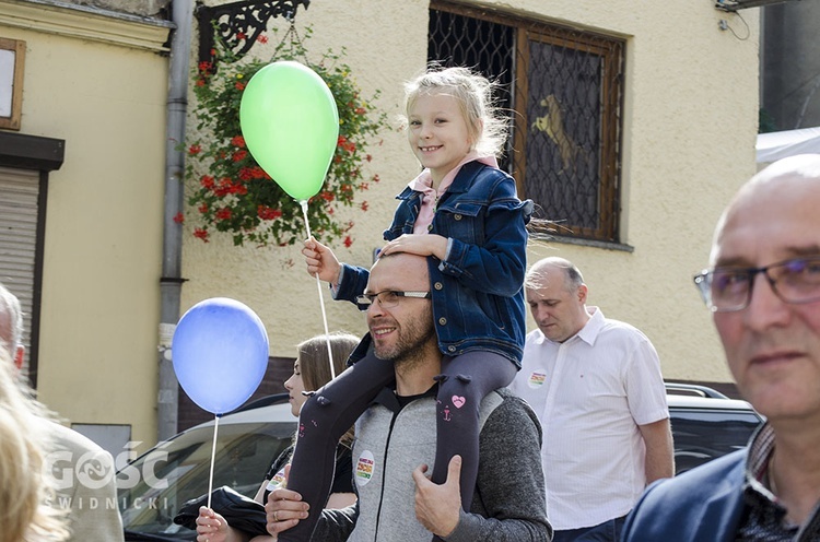
[{"label": "dark eyeglass frame, lenses excluded, on the bald man at right edge", "polygon": [[[788,260],[778,261],[775,263],[771,263],[769,266],[762,267],[762,268],[714,268],[714,269],[704,269],[700,273],[693,276],[694,285],[698,287],[698,291],[701,293],[701,298],[703,299],[703,303],[706,304],[706,307],[713,313],[734,313],[737,310],[742,310],[746,307],[749,306],[749,303],[751,302],[751,295],[752,290],[754,288],[754,278],[758,275],[758,273],[763,273],[763,276],[766,278],[766,282],[769,282],[769,285],[772,287],[772,292],[780,297],[781,301],[788,304],[794,305],[800,305],[805,303],[812,303],[820,301],[820,287],[818,287],[818,293],[816,295],[809,295],[808,297],[790,297],[777,290],[777,283],[781,282],[781,280],[786,276],[785,273],[780,273],[777,276],[772,276],[770,274],[770,271],[772,270],[786,270],[789,271],[789,268],[799,268],[799,270],[804,270],[809,266],[816,264],[820,269],[820,255],[818,256],[808,256],[805,258],[789,258]],[[736,273],[738,275],[745,275],[748,284],[748,290],[746,293],[746,299],[743,299],[742,304],[739,304],[737,306],[731,307],[717,307],[712,303],[712,282],[714,278],[715,271],[729,271],[733,273]],[[820,275],[820,272],[818,273]]]}]

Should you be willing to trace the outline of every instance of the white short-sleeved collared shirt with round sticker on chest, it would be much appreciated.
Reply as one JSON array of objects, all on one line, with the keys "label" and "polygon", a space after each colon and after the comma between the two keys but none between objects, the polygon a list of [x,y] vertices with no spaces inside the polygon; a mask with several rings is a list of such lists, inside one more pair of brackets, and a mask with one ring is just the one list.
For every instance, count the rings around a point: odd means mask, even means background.
[{"label": "white short-sleeved collared shirt with round sticker on chest", "polygon": [[555,530],[629,512],[646,485],[639,425],[669,417],[660,363],[646,335],[587,309],[589,321],[563,343],[530,332],[509,386],[543,426],[547,510]]}]

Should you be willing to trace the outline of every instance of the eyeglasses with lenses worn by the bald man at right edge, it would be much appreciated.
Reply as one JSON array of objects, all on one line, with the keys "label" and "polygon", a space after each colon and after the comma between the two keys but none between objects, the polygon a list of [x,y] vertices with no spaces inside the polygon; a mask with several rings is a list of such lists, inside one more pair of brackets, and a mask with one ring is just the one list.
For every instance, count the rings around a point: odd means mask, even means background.
[{"label": "eyeglasses with lenses worn by the bald man at right edge", "polygon": [[758,273],[763,273],[775,295],[786,303],[820,301],[820,256],[794,258],[764,268],[705,269],[694,275],[694,284],[710,310],[730,313],[749,306]]}]

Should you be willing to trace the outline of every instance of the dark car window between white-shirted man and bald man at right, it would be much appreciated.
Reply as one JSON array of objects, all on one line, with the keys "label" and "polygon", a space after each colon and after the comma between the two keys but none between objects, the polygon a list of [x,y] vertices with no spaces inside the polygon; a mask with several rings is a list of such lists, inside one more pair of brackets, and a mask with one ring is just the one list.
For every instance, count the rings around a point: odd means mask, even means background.
[{"label": "dark car window between white-shirted man and bald man at right", "polygon": [[745,447],[761,423],[753,411],[670,408],[669,416],[676,474]]}]

